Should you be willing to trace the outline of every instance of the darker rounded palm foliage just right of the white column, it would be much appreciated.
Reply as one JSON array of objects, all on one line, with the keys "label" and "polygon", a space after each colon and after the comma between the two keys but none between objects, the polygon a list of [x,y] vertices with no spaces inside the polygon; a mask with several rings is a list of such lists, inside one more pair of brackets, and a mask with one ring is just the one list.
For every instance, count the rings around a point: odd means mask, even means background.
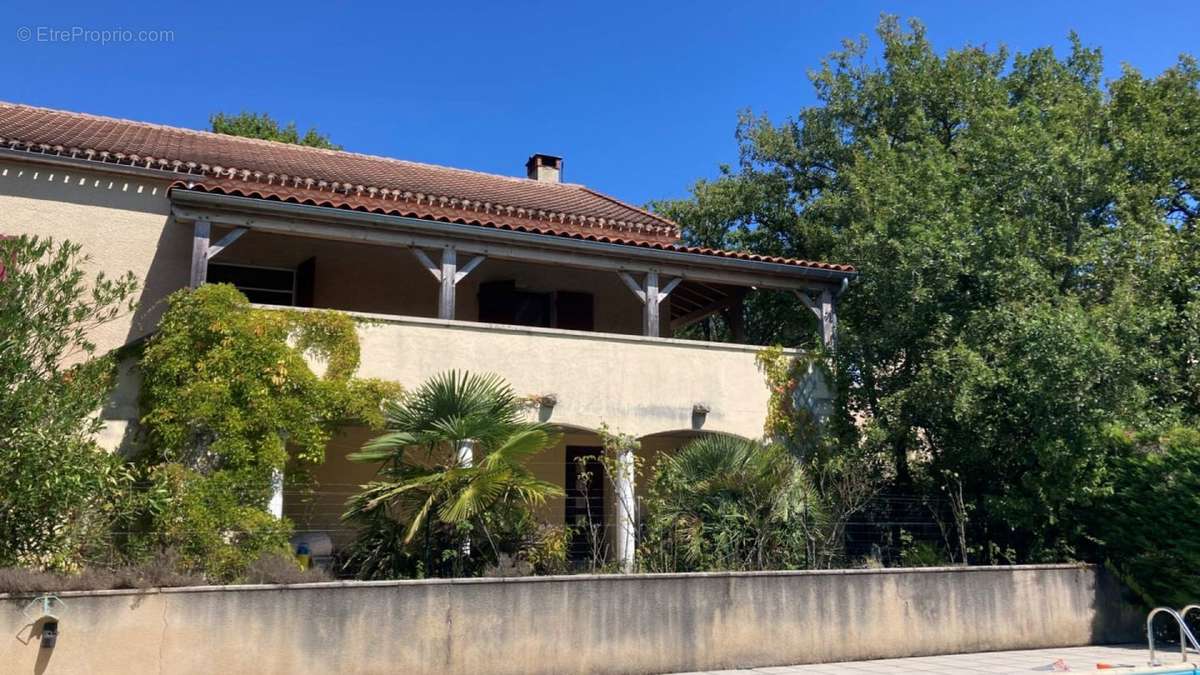
[{"label": "darker rounded palm foliage just right of the white column", "polygon": [[642,562],[655,572],[804,567],[811,491],[782,446],[697,438],[655,468]]}]

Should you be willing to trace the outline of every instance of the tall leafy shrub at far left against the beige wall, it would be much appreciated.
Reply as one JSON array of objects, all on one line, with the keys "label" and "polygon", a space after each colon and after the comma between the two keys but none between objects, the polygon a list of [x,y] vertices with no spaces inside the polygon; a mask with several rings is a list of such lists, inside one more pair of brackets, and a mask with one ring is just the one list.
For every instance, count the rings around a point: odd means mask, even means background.
[{"label": "tall leafy shrub at far left against the beige wall", "polygon": [[0,238],[0,566],[77,569],[127,485],[92,442],[115,366],[88,335],[137,282],[86,263],[68,241]]}]

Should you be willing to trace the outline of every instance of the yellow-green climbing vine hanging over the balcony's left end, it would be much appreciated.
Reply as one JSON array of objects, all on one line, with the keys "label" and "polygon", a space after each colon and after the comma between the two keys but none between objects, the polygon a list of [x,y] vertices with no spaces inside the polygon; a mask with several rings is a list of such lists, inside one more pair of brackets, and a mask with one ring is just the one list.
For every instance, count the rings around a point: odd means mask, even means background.
[{"label": "yellow-green climbing vine hanging over the balcony's left end", "polygon": [[224,580],[286,550],[290,525],[266,507],[289,458],[298,470],[322,461],[340,425],[380,422],[398,392],[353,378],[358,358],[346,315],[254,309],[228,285],[173,294],[142,359],[140,536],[126,545],[174,549]]}]

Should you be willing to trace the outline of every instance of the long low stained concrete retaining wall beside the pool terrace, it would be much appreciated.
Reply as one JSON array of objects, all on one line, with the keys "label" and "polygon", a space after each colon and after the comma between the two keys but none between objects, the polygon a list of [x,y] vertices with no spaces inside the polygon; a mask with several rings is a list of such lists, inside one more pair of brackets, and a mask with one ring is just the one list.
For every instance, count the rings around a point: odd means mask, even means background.
[{"label": "long low stained concrete retaining wall beside the pool terrace", "polygon": [[[2,598],[2,596],[0,596]],[[1136,638],[1091,567],[557,577],[67,593],[6,673],[662,673]]]}]

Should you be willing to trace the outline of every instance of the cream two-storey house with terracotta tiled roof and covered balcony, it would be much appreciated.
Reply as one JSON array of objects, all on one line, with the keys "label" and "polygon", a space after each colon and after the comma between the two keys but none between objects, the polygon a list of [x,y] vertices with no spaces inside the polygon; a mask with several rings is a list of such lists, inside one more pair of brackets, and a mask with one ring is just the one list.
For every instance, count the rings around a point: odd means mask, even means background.
[{"label": "cream two-storey house with terracotta tiled roof and covered balcony", "polygon": [[[371,319],[359,329],[365,377],[412,387],[450,369],[499,374],[563,429],[535,468],[568,486],[601,425],[637,437],[647,461],[698,434],[761,436],[760,347],[672,334],[721,311],[737,331],[746,293],[787,292],[830,344],[854,270],[688,246],[673,222],[563,180],[560,157],[524,168],[512,178],[0,103],[0,231],[74,240],[97,270],[143,282],[138,310],[96,333],[101,348],[152,331],[170,292],[221,281],[263,306]],[[131,380],[104,412],[109,447],[137,419]],[[300,530],[338,527],[372,472],[344,455],[368,437],[350,429],[331,443],[314,500],[281,497]],[[600,514],[628,561],[622,515],[644,486],[619,473],[614,489],[542,515]]]}]

